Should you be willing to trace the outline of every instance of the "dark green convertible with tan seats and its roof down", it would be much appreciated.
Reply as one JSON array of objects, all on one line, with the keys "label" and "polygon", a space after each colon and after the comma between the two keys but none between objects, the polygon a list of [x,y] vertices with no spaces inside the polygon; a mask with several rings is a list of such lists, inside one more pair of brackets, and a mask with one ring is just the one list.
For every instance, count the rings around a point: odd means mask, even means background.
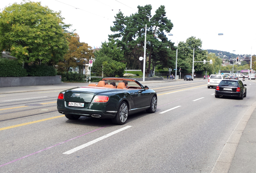
[{"label": "dark green convertible with tan seats and its roof down", "polygon": [[123,125],[130,114],[155,113],[157,93],[135,79],[103,78],[98,84],[60,92],[57,109],[71,120],[86,116],[112,119]]}]

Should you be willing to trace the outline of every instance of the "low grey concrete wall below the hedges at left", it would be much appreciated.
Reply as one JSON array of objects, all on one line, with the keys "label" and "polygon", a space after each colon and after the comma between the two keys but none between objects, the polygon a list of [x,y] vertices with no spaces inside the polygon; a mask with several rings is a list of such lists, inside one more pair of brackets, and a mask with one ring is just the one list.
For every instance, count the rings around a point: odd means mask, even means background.
[{"label": "low grey concrete wall below the hedges at left", "polygon": [[0,87],[61,84],[61,76],[0,77]]}]

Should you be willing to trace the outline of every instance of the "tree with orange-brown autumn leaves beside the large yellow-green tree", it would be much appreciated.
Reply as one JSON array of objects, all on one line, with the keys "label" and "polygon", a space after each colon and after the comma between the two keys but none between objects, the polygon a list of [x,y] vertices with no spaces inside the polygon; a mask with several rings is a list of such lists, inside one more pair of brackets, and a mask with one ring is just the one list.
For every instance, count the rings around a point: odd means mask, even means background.
[{"label": "tree with orange-brown autumn leaves beside the large yellow-green tree", "polygon": [[[76,68],[77,66],[82,69],[83,64],[89,62],[89,59],[94,58],[93,50],[91,46],[88,46],[85,42],[79,41],[79,36],[76,33],[67,34],[68,52],[64,55],[64,60],[58,63],[58,72],[68,72],[70,68]],[[79,70],[82,72],[82,70]]]}]

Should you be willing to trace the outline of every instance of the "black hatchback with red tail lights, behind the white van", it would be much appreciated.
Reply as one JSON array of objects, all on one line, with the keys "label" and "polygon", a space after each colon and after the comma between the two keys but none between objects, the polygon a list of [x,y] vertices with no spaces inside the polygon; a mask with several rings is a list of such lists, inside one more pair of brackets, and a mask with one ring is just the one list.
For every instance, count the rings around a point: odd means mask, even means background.
[{"label": "black hatchback with red tail lights, behind the white van", "polygon": [[246,84],[243,84],[241,80],[225,79],[221,80],[219,85],[215,89],[215,97],[222,96],[239,97],[244,99],[247,94]]}]

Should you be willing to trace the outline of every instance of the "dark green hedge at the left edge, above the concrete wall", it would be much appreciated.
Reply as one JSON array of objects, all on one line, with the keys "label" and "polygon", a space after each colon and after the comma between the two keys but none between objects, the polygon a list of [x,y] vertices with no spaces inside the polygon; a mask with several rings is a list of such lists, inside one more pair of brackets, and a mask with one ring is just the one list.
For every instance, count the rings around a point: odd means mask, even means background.
[{"label": "dark green hedge at the left edge, above the concrete wall", "polygon": [[0,77],[24,77],[26,69],[17,60],[0,58]]}]

